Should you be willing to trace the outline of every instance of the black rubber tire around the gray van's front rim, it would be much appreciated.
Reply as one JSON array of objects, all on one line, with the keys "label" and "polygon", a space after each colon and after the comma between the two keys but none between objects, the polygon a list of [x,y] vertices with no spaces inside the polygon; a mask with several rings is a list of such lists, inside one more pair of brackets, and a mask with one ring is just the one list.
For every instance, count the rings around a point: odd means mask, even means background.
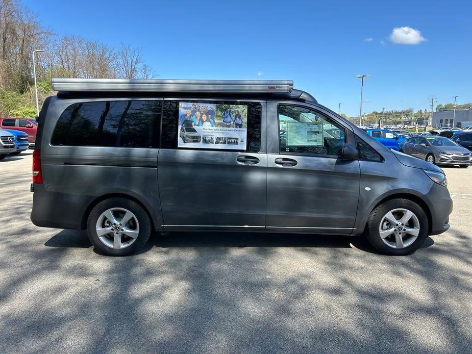
[{"label": "black rubber tire around the gray van's front rim", "polygon": [[[419,234],[416,240],[404,248],[392,248],[385,244],[380,237],[379,227],[382,218],[393,209],[408,209],[418,218]],[[391,199],[377,206],[371,213],[366,227],[366,238],[369,243],[383,255],[405,256],[418,249],[428,237],[429,221],[419,205],[409,199]]]}]

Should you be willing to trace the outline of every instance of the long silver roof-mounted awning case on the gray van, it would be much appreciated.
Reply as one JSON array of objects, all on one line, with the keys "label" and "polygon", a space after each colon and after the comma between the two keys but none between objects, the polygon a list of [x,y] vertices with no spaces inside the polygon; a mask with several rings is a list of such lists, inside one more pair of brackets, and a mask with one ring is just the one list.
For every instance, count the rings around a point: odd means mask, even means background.
[{"label": "long silver roof-mounted awning case on the gray van", "polygon": [[55,91],[291,92],[291,80],[53,79]]}]

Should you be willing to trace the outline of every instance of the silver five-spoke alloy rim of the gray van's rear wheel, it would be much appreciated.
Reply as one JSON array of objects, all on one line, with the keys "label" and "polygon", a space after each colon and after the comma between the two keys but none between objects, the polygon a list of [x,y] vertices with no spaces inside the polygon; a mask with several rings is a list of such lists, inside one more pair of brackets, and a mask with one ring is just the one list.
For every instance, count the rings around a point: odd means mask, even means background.
[{"label": "silver five-spoke alloy rim of the gray van's rear wheel", "polygon": [[96,222],[98,239],[110,248],[125,248],[136,241],[139,222],[136,216],[124,208],[104,211]]}]

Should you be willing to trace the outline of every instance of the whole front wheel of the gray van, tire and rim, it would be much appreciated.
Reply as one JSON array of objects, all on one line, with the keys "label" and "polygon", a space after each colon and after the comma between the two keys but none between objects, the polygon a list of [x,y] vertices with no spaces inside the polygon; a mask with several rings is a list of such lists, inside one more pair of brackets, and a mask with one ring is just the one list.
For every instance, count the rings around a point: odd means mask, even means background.
[{"label": "whole front wheel of the gray van, tire and rim", "polygon": [[392,199],[370,214],[367,240],[384,255],[403,256],[419,248],[428,236],[428,217],[409,199]]}]

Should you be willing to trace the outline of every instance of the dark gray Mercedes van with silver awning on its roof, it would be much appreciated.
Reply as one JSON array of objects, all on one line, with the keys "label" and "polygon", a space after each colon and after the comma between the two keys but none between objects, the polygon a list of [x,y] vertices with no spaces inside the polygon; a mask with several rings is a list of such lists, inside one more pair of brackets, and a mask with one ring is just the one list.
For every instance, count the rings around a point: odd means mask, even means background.
[{"label": "dark gray Mercedes van with silver awning on its roof", "polygon": [[[292,81],[53,88],[39,115],[31,220],[87,230],[102,254],[133,254],[155,231],[242,231],[363,235],[406,255],[449,228],[439,167],[386,148]],[[182,121],[204,139],[183,143]]]}]

